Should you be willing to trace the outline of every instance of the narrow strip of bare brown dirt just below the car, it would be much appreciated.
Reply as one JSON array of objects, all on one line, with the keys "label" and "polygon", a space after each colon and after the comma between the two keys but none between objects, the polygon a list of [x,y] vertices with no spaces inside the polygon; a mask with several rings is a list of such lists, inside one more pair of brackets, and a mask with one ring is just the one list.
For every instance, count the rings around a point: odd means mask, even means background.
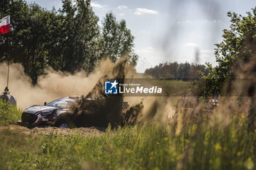
[{"label": "narrow strip of bare brown dirt just below the car", "polygon": [[26,134],[26,135],[32,135],[37,136],[41,134],[82,134],[84,136],[98,136],[104,134],[105,129],[104,128],[55,128],[55,127],[45,127],[45,128],[26,128],[21,125],[4,125],[0,126],[0,133],[2,131],[11,131],[17,134]]}]

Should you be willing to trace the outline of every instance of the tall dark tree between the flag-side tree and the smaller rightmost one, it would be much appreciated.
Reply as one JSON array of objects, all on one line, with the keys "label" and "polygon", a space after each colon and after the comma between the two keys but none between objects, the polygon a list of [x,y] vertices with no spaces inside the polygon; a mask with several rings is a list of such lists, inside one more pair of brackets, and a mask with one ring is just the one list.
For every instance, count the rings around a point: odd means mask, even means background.
[{"label": "tall dark tree between the flag-side tree and the smaller rightmost one", "polygon": [[64,42],[64,71],[74,72],[85,69],[91,72],[99,60],[99,18],[91,9],[89,0],[64,0],[62,14],[66,15],[64,28],[66,40]]}]

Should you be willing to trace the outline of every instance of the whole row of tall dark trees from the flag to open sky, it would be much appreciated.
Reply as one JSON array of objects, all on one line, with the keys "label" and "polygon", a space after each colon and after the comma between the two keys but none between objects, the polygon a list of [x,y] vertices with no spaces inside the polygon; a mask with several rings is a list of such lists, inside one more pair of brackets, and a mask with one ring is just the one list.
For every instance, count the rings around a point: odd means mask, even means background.
[{"label": "whole row of tall dark trees from the flag to open sky", "polygon": [[24,0],[2,0],[0,17],[11,16],[11,31],[0,36],[0,62],[22,63],[34,84],[47,67],[62,72],[93,72],[100,59],[127,55],[136,64],[134,39],[125,20],[109,12],[99,26],[90,0],[62,0],[45,9]]}]

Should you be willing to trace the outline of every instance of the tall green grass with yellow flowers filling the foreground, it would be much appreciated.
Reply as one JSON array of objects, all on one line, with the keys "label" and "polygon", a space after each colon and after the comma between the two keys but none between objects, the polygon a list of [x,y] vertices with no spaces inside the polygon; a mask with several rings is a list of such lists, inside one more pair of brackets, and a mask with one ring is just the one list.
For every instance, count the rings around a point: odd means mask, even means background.
[{"label": "tall green grass with yellow flowers filling the foreground", "polygon": [[180,112],[168,124],[108,128],[99,136],[1,131],[0,167],[255,169],[256,131],[249,131],[246,113],[233,112],[228,123],[208,114],[213,113]]}]

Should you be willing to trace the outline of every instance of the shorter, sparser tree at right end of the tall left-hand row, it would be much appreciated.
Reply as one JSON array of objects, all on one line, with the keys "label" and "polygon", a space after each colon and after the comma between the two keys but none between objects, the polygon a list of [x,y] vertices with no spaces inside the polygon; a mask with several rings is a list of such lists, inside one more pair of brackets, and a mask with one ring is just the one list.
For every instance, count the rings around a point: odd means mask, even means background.
[{"label": "shorter, sparser tree at right end of the tall left-hand row", "polygon": [[102,39],[104,41],[102,57],[109,57],[114,63],[118,58],[129,55],[131,63],[135,65],[138,60],[138,55],[132,49],[135,37],[127,28],[125,20],[118,22],[113,12],[109,12],[102,25]]}]

